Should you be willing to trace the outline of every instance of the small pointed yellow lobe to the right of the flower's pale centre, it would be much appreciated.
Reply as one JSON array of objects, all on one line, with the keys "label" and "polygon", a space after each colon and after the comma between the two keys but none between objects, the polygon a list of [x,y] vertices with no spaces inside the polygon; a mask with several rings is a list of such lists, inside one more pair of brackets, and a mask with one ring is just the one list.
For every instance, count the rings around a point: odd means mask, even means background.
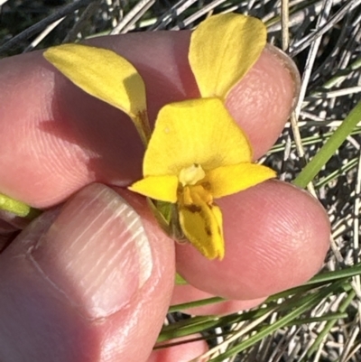
[{"label": "small pointed yellow lobe to the right of the flower's pale centre", "polygon": [[245,162],[211,170],[207,172],[206,181],[211,185],[213,197],[222,198],[273,177],[276,177],[276,172],[272,169],[261,164]]}]

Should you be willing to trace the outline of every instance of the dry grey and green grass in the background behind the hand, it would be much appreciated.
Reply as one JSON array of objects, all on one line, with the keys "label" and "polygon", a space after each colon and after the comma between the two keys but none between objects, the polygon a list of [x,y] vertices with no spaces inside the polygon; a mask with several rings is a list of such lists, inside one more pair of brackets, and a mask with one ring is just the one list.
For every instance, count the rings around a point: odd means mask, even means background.
[{"label": "dry grey and green grass in the background behind the hand", "polygon": [[[196,303],[171,307],[159,341],[200,331],[212,361],[360,361],[361,116],[359,106],[350,112],[361,99],[361,0],[0,0],[0,56],[104,34],[192,29],[227,12],[262,19],[268,41],[301,72],[291,122],[261,161],[282,180],[311,181],[332,223],[331,248],[319,275],[255,310],[186,318],[181,311]],[[330,136],[345,118],[339,146]],[[305,165],[328,141],[336,152],[326,151],[309,180]],[[220,299],[197,304],[210,302]]]}]

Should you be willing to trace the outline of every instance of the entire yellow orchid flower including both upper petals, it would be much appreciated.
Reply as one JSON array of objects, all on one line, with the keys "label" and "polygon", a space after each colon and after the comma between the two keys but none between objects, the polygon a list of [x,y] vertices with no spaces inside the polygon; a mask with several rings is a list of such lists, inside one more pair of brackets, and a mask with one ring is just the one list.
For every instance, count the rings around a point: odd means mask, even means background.
[{"label": "entire yellow orchid flower including both upper petals", "polygon": [[79,44],[44,53],[79,88],[130,116],[146,147],[143,180],[130,190],[147,196],[162,227],[186,237],[208,259],[225,255],[214,200],[275,176],[252,163],[251,146],[224,105],[259,58],[265,38],[264,24],[253,17],[218,14],[200,23],[190,37],[189,60],[201,98],[163,107],[153,134],[143,79],[128,60]]}]

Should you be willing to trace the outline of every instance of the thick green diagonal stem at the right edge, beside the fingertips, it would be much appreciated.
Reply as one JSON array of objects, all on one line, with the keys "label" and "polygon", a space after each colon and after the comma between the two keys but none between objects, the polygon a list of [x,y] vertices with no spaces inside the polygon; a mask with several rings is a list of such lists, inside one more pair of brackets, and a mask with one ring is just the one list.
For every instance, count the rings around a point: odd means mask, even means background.
[{"label": "thick green diagonal stem at the right edge, beside the fingertips", "polygon": [[329,161],[332,155],[338,150],[338,147],[343,144],[347,136],[361,121],[361,102],[350,112],[345,118],[342,125],[329,137],[329,141],[322,146],[312,160],[303,168],[300,174],[293,181],[293,184],[301,188],[305,188],[310,181],[319,173],[321,168]]}]

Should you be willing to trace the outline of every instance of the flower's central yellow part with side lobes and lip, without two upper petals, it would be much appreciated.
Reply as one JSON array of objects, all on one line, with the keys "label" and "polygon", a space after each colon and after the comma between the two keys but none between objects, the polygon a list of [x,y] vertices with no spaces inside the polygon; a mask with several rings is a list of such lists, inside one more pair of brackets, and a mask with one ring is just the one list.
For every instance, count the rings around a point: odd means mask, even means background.
[{"label": "flower's central yellow part with side lobes and lip, without two upper petals", "polygon": [[275,176],[252,163],[244,132],[218,98],[162,107],[143,160],[143,180],[129,189],[176,204],[180,229],[208,259],[222,259],[222,214],[214,199]]}]

